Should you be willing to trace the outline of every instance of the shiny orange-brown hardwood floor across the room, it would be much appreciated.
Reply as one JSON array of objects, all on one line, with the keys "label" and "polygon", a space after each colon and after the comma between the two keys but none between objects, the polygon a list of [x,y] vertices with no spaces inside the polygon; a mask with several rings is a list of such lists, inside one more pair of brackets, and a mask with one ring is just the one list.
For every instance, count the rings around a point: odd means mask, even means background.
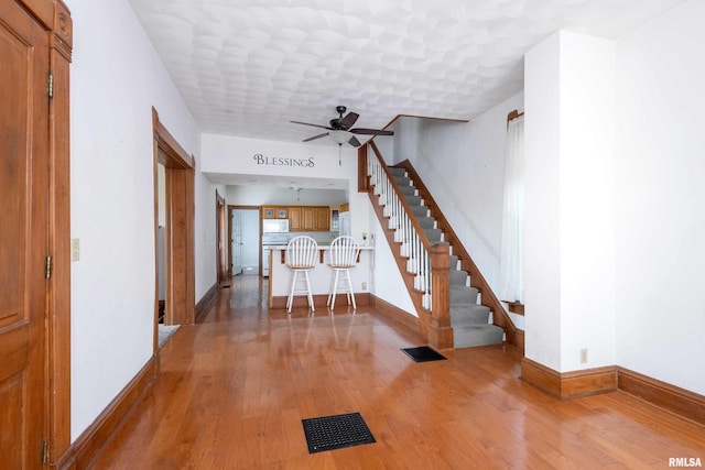
[{"label": "shiny orange-brown hardwood floor across the room", "polygon": [[[269,311],[259,278],[236,277],[162,348],[159,379],[93,468],[705,464],[704,427],[620,392],[557,401],[519,379],[512,347],[415,363],[400,351],[422,345],[415,334],[369,309],[318,310]],[[301,420],[351,412],[377,442],[310,455]]]}]

